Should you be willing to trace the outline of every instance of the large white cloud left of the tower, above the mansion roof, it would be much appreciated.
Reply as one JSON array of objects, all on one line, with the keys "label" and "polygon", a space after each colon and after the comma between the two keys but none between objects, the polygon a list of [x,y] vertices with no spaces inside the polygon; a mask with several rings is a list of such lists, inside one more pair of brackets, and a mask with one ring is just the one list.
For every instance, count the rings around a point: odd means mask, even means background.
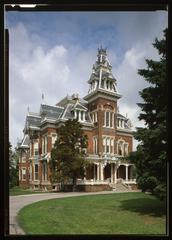
[{"label": "large white cloud left of the tower, above the mansion roof", "polygon": [[[10,32],[10,140],[22,137],[26,109],[39,111],[41,95],[49,104],[64,96],[69,81],[67,50],[54,46],[47,52],[37,46],[22,23]],[[47,98],[46,98],[47,96]]]}]

